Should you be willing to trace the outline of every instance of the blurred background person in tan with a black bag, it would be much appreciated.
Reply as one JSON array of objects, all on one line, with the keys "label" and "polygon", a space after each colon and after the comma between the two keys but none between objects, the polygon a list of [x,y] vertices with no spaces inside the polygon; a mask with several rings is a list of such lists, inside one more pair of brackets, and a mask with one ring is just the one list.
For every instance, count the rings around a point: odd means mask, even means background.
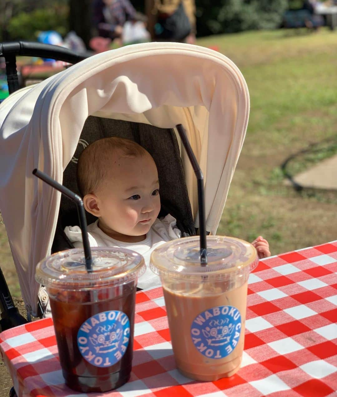
[{"label": "blurred background person in tan with a black bag", "polygon": [[145,10],[153,41],[195,43],[195,0],[146,0]]}]

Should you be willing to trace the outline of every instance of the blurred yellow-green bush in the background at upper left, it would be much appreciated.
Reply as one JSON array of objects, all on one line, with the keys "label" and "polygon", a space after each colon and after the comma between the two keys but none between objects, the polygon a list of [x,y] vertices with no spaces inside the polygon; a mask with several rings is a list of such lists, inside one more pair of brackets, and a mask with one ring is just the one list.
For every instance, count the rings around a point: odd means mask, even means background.
[{"label": "blurred yellow-green bush in the background at upper left", "polygon": [[32,12],[21,12],[11,18],[8,32],[11,40],[36,40],[38,31],[55,30],[62,36],[69,31],[69,8],[54,5],[51,8],[40,8]]}]

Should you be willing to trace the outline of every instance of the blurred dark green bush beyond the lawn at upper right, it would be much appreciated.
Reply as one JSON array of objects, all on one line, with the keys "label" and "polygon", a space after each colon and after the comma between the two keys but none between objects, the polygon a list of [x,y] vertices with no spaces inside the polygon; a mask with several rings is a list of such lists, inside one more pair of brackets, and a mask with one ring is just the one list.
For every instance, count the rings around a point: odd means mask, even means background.
[{"label": "blurred dark green bush beyond the lawn at upper right", "polygon": [[280,26],[288,0],[196,0],[199,36]]}]

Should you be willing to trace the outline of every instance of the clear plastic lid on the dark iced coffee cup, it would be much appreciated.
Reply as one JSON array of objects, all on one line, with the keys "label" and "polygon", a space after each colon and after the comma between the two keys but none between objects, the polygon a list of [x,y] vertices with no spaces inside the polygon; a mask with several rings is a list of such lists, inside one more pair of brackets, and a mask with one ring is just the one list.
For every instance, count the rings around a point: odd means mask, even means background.
[{"label": "clear plastic lid on the dark iced coffee cup", "polygon": [[91,289],[119,285],[144,274],[144,258],[122,248],[92,248],[92,269],[88,273],[83,249],[69,249],[50,255],[36,266],[35,279],[47,287]]}]

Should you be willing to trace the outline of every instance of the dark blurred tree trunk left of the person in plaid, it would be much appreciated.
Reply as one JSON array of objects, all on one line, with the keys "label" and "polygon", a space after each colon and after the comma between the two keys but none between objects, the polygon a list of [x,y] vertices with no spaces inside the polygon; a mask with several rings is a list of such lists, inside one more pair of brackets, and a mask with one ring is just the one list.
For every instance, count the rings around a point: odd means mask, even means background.
[{"label": "dark blurred tree trunk left of the person in plaid", "polygon": [[92,6],[90,0],[69,0],[69,28],[74,31],[89,48],[92,37]]}]

